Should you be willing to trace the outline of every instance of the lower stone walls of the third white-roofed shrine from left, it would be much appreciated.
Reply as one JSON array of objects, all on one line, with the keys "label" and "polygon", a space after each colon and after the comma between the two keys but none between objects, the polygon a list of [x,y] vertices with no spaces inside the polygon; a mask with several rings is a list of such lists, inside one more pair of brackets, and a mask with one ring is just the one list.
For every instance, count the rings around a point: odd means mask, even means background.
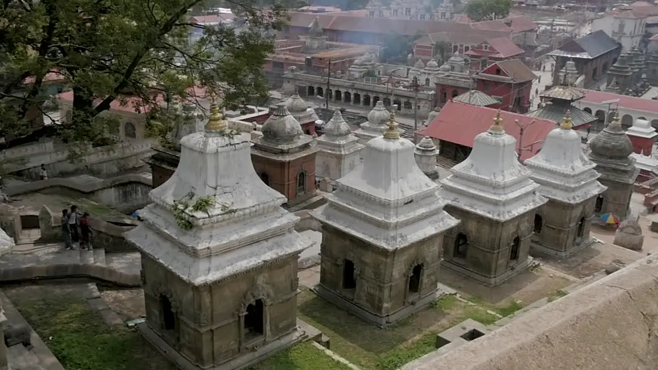
[{"label": "lower stone walls of the third white-roofed shrine from left", "polygon": [[446,205],[461,224],[449,229],[443,241],[443,267],[494,286],[530,264],[530,236],[534,209],[505,222],[486,219]]}]

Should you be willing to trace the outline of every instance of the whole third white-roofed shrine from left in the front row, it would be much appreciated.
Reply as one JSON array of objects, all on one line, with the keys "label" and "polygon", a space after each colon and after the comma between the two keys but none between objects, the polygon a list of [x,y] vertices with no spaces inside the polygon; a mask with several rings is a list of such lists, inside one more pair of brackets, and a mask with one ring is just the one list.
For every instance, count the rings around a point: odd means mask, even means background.
[{"label": "whole third white-roofed shrine from left in the front row", "polygon": [[490,286],[528,267],[534,216],[547,202],[516,147],[499,111],[468,158],[441,181],[445,210],[462,221],[445,235],[442,265]]}]

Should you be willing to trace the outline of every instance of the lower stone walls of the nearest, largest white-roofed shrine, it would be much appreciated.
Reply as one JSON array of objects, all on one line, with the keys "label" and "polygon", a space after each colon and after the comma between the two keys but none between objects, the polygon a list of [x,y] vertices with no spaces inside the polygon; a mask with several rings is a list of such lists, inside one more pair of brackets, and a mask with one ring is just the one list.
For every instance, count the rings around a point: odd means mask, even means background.
[{"label": "lower stone walls of the nearest, largest white-roofed shrine", "polygon": [[[297,255],[204,286],[145,254],[141,269],[147,325],[203,369],[241,367],[297,328]],[[247,362],[233,366],[236,357]]]}]

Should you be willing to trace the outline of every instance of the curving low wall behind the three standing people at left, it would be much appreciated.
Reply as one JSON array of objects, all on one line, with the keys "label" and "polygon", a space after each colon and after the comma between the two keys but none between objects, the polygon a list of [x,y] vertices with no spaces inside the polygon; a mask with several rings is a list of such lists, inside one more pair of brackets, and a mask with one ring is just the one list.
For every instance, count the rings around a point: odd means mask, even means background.
[{"label": "curving low wall behind the three standing people at left", "polygon": [[132,212],[145,207],[152,189],[150,178],[138,174],[125,174],[108,179],[91,178],[82,181],[76,178],[49,178],[6,188],[9,196],[20,196],[39,192],[72,198],[89,198],[97,203],[113,207],[121,212]]}]

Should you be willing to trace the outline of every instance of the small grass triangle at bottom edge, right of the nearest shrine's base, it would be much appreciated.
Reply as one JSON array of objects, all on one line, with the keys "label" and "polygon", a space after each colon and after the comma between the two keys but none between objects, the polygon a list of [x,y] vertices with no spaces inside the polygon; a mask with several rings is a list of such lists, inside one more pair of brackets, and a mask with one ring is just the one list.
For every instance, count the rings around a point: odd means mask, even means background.
[{"label": "small grass triangle at bottom edge, right of the nearest shrine's base", "polygon": [[310,342],[303,342],[247,370],[349,370],[349,367],[327,356]]}]

